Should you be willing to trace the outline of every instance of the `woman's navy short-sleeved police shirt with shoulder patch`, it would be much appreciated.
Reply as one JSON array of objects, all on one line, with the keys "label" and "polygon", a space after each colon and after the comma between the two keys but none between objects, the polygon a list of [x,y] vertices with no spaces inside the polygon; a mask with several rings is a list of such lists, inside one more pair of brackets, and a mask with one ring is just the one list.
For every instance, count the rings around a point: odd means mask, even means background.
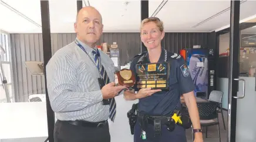
[{"label": "woman's navy short-sleeved police shirt with shoulder patch", "polygon": [[[143,64],[150,63],[148,53],[145,54],[146,58]],[[138,79],[136,74],[136,64],[142,56],[143,54],[141,56],[134,57],[130,64],[130,70],[135,73],[136,79]],[[162,49],[158,63],[164,62],[164,59],[165,51]],[[151,96],[139,99],[138,107],[140,112],[144,114],[153,116],[169,116],[174,109],[180,109],[180,96],[183,93],[194,91],[194,83],[183,57],[167,51],[167,61],[171,62],[169,78],[170,89],[169,91],[156,92]],[[139,91],[137,84],[133,86],[133,89],[134,91]]]}]

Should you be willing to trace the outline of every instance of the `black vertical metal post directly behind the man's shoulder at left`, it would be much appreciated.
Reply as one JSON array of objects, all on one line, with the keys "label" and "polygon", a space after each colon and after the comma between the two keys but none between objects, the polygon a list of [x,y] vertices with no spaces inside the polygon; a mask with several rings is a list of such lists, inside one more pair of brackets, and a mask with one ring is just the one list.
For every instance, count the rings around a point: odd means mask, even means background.
[{"label": "black vertical metal post directly behind the man's shoulder at left", "polygon": [[[40,1],[41,4],[41,18],[42,18],[42,39],[43,39],[43,63],[46,65],[52,57],[52,46],[50,40],[50,15],[49,15],[49,1]],[[47,91],[46,72],[45,72],[45,94],[46,94],[46,110],[48,122],[48,140],[54,142],[53,130],[55,126],[55,114],[50,107],[50,101]]]}]

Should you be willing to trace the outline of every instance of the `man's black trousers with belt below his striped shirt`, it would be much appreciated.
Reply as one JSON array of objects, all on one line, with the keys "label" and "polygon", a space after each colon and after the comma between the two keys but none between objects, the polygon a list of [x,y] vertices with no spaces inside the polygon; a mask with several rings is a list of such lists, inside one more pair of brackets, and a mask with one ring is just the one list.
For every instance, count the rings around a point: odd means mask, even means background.
[{"label": "man's black trousers with belt below his striped shirt", "polygon": [[76,126],[57,120],[53,137],[55,142],[110,142],[109,123],[97,128]]}]

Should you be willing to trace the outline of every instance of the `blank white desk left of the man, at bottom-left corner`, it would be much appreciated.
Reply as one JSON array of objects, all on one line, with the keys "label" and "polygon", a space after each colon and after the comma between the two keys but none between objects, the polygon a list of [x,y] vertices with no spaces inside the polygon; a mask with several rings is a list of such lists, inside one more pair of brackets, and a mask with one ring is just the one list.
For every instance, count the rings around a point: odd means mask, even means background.
[{"label": "blank white desk left of the man, at bottom-left corner", "polygon": [[0,139],[48,137],[46,102],[0,103]]}]

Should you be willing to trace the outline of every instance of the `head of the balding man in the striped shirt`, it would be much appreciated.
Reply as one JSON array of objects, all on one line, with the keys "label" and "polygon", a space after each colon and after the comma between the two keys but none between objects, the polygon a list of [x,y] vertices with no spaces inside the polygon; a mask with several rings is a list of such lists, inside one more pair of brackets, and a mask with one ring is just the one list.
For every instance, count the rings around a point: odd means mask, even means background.
[{"label": "head of the balding man in the striped shirt", "polygon": [[102,17],[92,8],[82,9],[74,26],[79,40],[91,47],[96,45],[103,32]]}]

